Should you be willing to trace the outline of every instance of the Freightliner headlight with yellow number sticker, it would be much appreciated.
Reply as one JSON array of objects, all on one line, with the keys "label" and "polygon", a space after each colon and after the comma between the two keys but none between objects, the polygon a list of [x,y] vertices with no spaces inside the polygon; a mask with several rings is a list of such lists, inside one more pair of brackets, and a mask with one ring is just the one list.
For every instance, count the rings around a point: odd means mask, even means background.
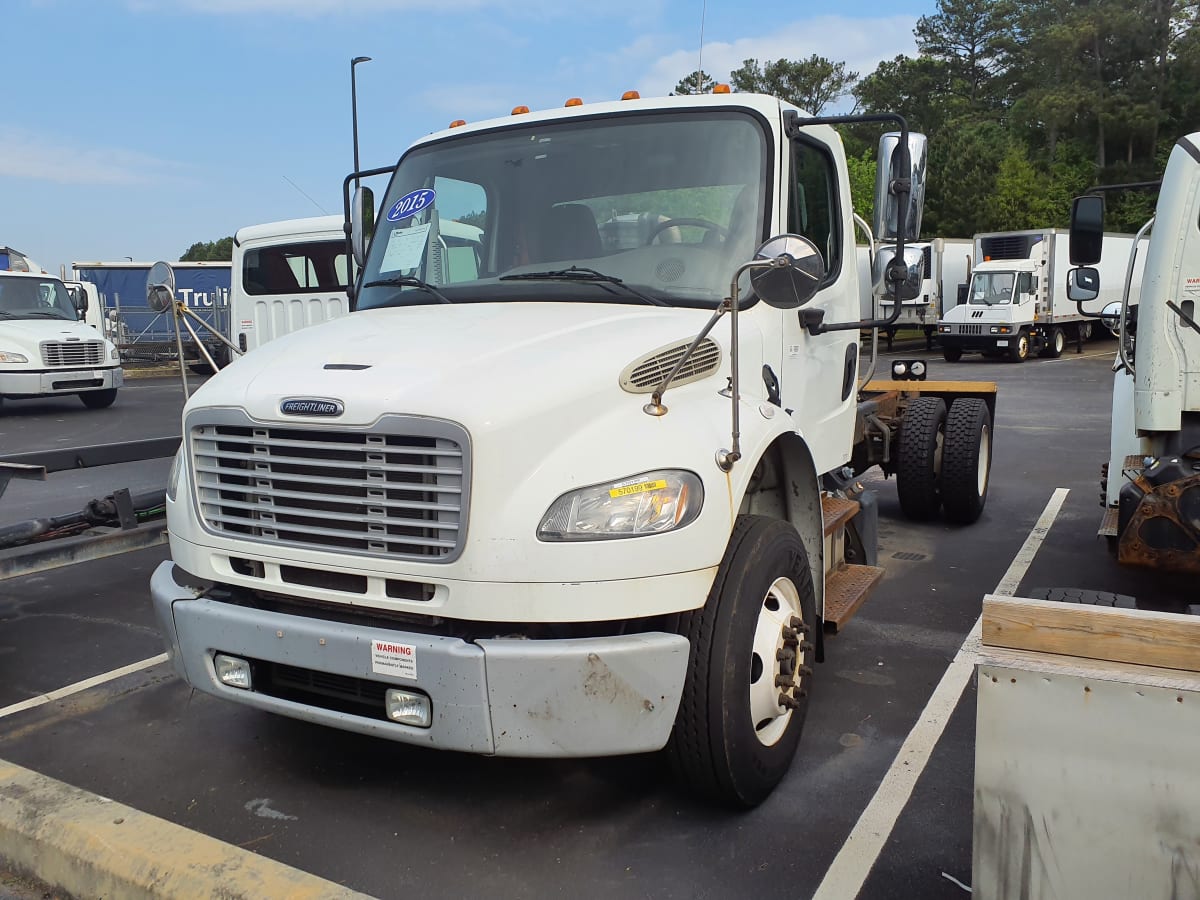
[{"label": "Freightliner headlight with yellow number sticker", "polygon": [[700,515],[704,487],[691,472],[644,472],[564,493],[541,517],[538,539],[594,541],[683,528]]}]

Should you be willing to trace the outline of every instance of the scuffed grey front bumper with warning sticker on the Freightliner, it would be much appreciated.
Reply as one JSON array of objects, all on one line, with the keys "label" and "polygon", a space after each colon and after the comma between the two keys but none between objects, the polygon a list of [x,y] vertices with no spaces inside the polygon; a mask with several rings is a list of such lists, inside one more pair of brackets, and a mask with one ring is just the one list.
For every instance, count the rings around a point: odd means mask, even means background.
[{"label": "scuffed grey front bumper with warning sticker on the Freightliner", "polygon": [[[151,577],[155,616],[175,671],[206,694],[401,743],[497,756],[647,752],[666,744],[674,724],[689,654],[680,635],[468,642],[236,606],[200,595],[175,572],[164,562]],[[380,671],[374,641],[413,648],[412,677]],[[251,660],[254,688],[222,684],[215,653]],[[298,679],[310,685],[300,698]],[[428,695],[431,727],[389,721],[382,701],[389,686]],[[323,700],[335,694],[337,703]],[[344,712],[350,694],[379,700]]]}]

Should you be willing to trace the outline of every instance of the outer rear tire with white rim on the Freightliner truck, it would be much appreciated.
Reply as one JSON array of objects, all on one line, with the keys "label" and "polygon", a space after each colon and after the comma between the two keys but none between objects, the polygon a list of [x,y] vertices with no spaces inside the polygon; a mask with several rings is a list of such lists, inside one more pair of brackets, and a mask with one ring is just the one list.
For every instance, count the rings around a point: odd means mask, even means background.
[{"label": "outer rear tire with white rim on the Freightliner truck", "polygon": [[983,514],[991,481],[991,413],[977,397],[959,397],[946,415],[942,509],[946,521],[971,524]]}]

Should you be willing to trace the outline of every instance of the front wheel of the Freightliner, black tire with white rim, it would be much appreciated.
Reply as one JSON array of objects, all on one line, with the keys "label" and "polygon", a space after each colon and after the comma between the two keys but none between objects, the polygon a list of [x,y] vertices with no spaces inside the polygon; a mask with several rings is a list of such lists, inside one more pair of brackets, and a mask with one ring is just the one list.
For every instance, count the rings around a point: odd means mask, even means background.
[{"label": "front wheel of the Freightliner, black tire with white rim", "polygon": [[666,752],[686,788],[746,809],[787,774],[808,713],[815,605],[796,529],[739,516],[708,600],[680,624],[691,655]]}]

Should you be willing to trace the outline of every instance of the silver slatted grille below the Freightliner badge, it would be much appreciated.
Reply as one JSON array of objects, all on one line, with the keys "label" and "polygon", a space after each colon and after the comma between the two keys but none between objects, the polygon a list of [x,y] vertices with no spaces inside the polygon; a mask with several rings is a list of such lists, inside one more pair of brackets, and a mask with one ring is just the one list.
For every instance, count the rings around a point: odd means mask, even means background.
[{"label": "silver slatted grille below the Freightliner badge", "polygon": [[215,534],[425,562],[462,548],[469,460],[458,426],[188,425],[200,518]]}]

